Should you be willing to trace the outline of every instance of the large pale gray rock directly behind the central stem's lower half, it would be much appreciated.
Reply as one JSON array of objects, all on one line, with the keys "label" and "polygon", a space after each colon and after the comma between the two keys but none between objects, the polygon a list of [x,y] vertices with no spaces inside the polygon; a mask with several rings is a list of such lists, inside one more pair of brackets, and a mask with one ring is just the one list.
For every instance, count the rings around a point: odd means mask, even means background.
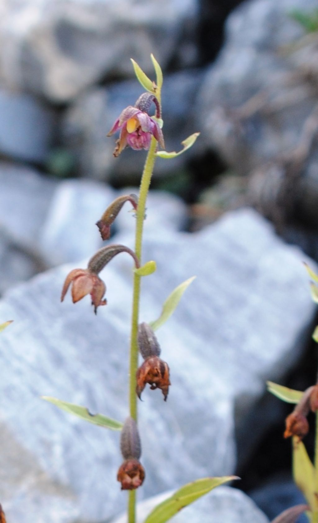
[{"label": "large pale gray rock directly behind the central stem's lower half", "polygon": [[[155,208],[149,206],[148,212]],[[118,232],[113,239],[132,246],[130,232]],[[148,259],[155,259],[158,269],[143,279],[140,321],[155,319],[181,281],[192,275],[197,279],[157,332],[161,357],[171,370],[168,401],[147,388],[139,404],[147,474],[140,496],[145,497],[198,477],[233,473],[234,425],[260,399],[265,379],[279,380],[293,365],[314,311],[303,255],[282,243],[252,210],[228,214],[196,234],[168,229],[157,234],[149,219]],[[80,518],[96,521],[116,516],[126,504],[115,481],[121,463],[119,433],[40,400],[42,394],[51,395],[93,413],[119,420],[127,416],[132,260],[123,253],[102,271],[108,305],[97,316],[87,297],[73,305],[68,294],[60,303],[67,273],[86,263],[45,272],[0,301],[0,317],[15,320],[0,337],[5,369],[0,413],[15,445],[34,460],[31,469],[21,464],[17,471],[26,499],[34,495],[30,477],[38,478],[40,470],[56,485],[50,503],[63,497],[63,503],[72,504],[73,498]],[[254,432],[256,427],[245,447],[253,445]],[[4,482],[0,468],[0,491],[6,493],[2,503],[8,521],[18,523],[15,492],[5,489]],[[46,508],[27,505],[25,523],[45,518]]]}]

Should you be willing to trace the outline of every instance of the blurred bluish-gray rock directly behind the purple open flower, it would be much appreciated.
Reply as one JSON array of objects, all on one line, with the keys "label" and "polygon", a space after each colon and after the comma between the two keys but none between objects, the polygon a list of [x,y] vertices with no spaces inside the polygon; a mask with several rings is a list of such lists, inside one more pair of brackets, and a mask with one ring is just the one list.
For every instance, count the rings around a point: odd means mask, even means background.
[{"label": "blurred bluish-gray rock directly behind the purple open flower", "polygon": [[[168,75],[162,87],[163,134],[167,151],[180,151],[181,142],[197,131],[193,105],[202,73],[189,70]],[[117,135],[107,138],[114,121],[128,105],[134,105],[143,87],[136,80],[95,87],[79,96],[66,111],[62,122],[63,141],[78,161],[82,176],[109,179],[121,185],[136,183],[143,171],[145,154],[127,147],[124,154],[113,157]],[[152,108],[154,109],[154,108]],[[151,112],[150,112],[151,114]],[[173,160],[158,158],[155,176],[181,169],[196,153],[190,149]]]}]

